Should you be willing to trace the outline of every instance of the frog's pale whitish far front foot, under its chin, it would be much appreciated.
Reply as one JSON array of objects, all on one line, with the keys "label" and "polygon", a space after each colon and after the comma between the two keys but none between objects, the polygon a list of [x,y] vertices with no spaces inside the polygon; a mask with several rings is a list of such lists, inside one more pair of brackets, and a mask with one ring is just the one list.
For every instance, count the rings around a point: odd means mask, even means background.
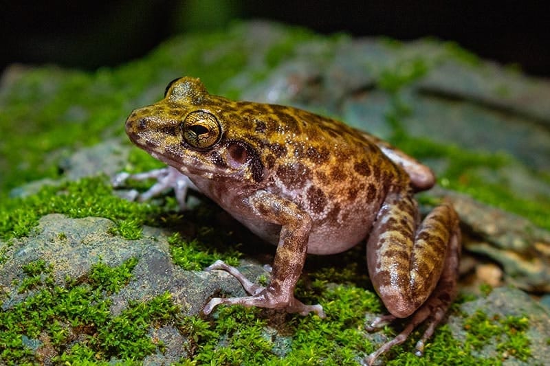
[{"label": "frog's pale whitish far front foot, under its chin", "polygon": [[155,183],[146,192],[140,194],[137,190],[131,190],[128,194],[128,198],[131,201],[147,201],[148,199],[162,194],[165,190],[172,188],[175,192],[177,203],[181,209],[186,208],[185,198],[187,196],[187,190],[197,190],[197,187],[190,181],[190,179],[181,174],[177,169],[167,166],[166,168],[150,170],[149,172],[129,174],[122,172],[117,174],[111,183],[113,187],[122,187],[128,179],[134,179],[136,181],[144,181],[146,179],[156,179]]}]

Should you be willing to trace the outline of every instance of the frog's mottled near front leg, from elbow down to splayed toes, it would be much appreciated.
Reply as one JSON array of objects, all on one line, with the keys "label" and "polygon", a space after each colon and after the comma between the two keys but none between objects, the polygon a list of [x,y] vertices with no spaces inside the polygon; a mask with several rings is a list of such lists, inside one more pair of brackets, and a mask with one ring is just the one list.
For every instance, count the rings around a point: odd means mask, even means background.
[{"label": "frog's mottled near front leg, from elbow down to splayed toes", "polygon": [[316,312],[325,317],[322,306],[305,305],[294,297],[296,282],[302,274],[307,253],[307,242],[311,229],[311,218],[291,201],[279,198],[265,191],[259,191],[248,198],[248,205],[255,215],[267,222],[281,225],[270,282],[265,287],[253,284],[236,268],[223,262],[216,262],[211,269],[228,271],[243,284],[248,297],[215,297],[203,309],[209,314],[219,304],[240,304],[261,308],[285,309],[287,312],[309,314]]}]

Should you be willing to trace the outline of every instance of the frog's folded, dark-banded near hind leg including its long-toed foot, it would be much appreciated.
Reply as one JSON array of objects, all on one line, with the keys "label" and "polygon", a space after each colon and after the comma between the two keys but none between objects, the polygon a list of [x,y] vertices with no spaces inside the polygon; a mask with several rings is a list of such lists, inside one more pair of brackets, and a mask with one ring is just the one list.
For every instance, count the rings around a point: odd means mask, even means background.
[{"label": "frog's folded, dark-banded near hind leg including its long-toed foot", "polygon": [[410,323],[365,362],[403,343],[410,332],[431,317],[417,343],[417,355],[432,335],[456,296],[461,234],[459,218],[443,203],[417,225],[417,204],[411,194],[390,193],[377,215],[367,242],[369,275],[375,290],[391,313],[375,319],[368,330],[386,321],[409,317]]}]

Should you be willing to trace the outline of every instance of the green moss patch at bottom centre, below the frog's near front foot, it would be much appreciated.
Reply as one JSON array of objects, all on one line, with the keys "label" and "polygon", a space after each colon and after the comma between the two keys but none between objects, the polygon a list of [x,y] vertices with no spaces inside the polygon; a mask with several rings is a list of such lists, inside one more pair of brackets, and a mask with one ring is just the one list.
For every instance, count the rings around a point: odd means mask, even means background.
[{"label": "green moss patch at bottom centre, below the frog's near front foot", "polygon": [[[362,336],[363,314],[378,308],[376,296],[361,288],[336,286],[327,291],[325,309],[329,319],[316,316],[287,315],[285,329],[270,329],[270,311],[241,306],[221,306],[208,323],[197,317],[182,319],[180,330],[196,342],[193,357],[197,363],[217,360],[220,363],[258,365],[345,365],[355,363],[358,352],[366,350]],[[345,301],[344,301],[345,300]],[[285,345],[285,334],[292,345]]]}]

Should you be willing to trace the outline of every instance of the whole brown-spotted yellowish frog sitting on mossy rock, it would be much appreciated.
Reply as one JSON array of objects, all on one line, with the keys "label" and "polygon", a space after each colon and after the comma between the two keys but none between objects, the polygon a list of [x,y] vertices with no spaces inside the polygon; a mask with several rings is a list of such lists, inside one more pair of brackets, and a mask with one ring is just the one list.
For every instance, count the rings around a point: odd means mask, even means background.
[{"label": "whole brown-spotted yellowish frog sitting on mossy rock", "polygon": [[307,254],[331,255],[366,243],[369,277],[388,310],[366,330],[409,319],[363,363],[372,365],[426,323],[415,347],[423,354],[456,297],[461,254],[459,217],[450,203],[419,215],[414,194],[434,185],[430,168],[344,122],[211,95],[191,77],[173,80],[164,99],[132,111],[125,128],[133,144],[168,166],[123,173],[117,185],[154,177],[157,183],[137,198],[173,187],[182,209],[188,190],[196,190],[276,245],[265,286],[221,260],[208,266],[230,273],[248,295],[213,297],[204,314],[240,304],[325,318],[320,304],[294,297]]}]

